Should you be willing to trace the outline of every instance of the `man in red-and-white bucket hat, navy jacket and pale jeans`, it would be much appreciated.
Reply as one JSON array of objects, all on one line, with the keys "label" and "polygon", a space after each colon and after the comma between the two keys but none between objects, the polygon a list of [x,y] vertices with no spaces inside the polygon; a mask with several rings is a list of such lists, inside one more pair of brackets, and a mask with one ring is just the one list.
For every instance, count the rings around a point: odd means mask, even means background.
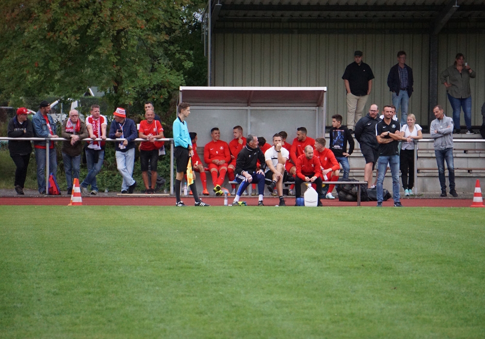
[{"label": "man in red-and-white bucket hat, navy jacket and pale jeans", "polygon": [[115,156],[118,171],[123,177],[121,193],[131,194],[135,191],[136,181],[133,179],[133,166],[135,164],[135,142],[138,138],[135,122],[126,117],[124,108],[116,108],[113,112],[114,121],[110,125],[110,139],[124,139],[115,142]]}]

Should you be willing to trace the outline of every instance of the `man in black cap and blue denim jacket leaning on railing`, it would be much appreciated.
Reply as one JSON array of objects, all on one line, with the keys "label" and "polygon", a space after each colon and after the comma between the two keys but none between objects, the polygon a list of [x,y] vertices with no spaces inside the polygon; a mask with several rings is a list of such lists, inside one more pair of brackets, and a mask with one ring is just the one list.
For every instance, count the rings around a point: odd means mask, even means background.
[{"label": "man in black cap and blue denim jacket leaning on railing", "polygon": [[[35,138],[59,138],[56,133],[54,119],[48,114],[50,104],[43,101],[39,105],[39,110],[32,118],[32,127]],[[37,162],[37,186],[40,194],[46,194],[46,141],[34,141],[35,161]],[[54,141],[49,142],[49,170],[56,176],[57,173],[57,154],[54,148]]]}]

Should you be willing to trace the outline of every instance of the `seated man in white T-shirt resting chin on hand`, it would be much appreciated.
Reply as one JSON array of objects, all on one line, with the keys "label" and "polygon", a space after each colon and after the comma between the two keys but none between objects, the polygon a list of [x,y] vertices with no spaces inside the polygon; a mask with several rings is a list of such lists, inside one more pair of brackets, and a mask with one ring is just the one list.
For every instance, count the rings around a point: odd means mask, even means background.
[{"label": "seated man in white T-shirt resting chin on hand", "polygon": [[288,176],[285,164],[289,156],[290,152],[283,147],[281,136],[276,133],[273,136],[273,147],[264,153],[264,159],[266,160],[266,173],[264,176],[268,184],[268,191],[273,193],[276,187],[279,206],[286,206],[283,199],[283,182],[286,181]]}]

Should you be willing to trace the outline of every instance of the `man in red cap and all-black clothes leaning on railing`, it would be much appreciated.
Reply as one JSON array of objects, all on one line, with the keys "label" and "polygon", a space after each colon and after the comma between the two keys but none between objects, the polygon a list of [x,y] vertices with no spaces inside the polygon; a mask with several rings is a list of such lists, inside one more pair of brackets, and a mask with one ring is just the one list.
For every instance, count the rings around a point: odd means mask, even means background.
[{"label": "man in red cap and all-black clothes leaning on railing", "polygon": [[[9,138],[32,138],[32,122],[27,118],[29,111],[25,107],[17,109],[15,117],[10,119],[7,125],[7,137]],[[14,160],[15,170],[15,191],[17,194],[24,194],[25,178],[27,177],[27,167],[29,166],[32,144],[30,140],[9,140],[8,150],[10,157]]]}]

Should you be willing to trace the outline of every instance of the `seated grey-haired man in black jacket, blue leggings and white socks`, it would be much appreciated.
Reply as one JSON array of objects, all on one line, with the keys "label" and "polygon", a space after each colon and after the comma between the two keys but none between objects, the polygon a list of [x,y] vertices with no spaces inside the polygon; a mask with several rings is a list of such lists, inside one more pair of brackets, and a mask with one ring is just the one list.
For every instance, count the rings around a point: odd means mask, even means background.
[{"label": "seated grey-haired man in black jacket, blue leggings and white socks", "polygon": [[[260,170],[256,170],[257,162],[263,164]],[[242,192],[251,183],[258,184],[258,206],[264,206],[263,204],[263,192],[264,192],[264,154],[258,147],[258,138],[255,135],[248,134],[246,138],[246,146],[239,152],[236,160],[236,181],[240,184],[236,197],[232,202],[233,206],[246,205],[245,201],[239,201]],[[320,181],[322,186],[322,181]]]}]

